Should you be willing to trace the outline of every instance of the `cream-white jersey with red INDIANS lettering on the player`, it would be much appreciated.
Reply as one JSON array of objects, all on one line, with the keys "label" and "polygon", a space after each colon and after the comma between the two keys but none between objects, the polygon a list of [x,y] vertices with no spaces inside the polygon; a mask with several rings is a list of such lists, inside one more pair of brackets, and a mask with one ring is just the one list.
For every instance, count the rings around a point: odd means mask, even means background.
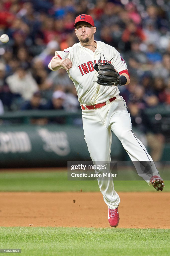
[{"label": "cream-white jersey with red INDIANS lettering on the player", "polygon": [[[98,72],[93,68],[95,63],[99,60],[104,63],[106,60],[106,62],[112,63],[119,73],[127,70],[124,59],[114,47],[100,41],[96,42],[97,49],[94,52],[83,47],[80,42],[64,51],[55,52],[55,56],[59,55],[61,59],[68,58],[72,61],[73,66],[67,70],[67,73],[75,85],[79,102],[86,105],[101,103],[119,95],[117,86],[101,86],[96,83]],[[53,70],[51,61],[48,67]]]}]

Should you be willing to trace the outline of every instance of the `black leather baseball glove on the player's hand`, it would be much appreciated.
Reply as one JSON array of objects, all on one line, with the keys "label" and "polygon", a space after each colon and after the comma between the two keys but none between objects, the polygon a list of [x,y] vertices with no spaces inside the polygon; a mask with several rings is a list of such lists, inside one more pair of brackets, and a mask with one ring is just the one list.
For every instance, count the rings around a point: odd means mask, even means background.
[{"label": "black leather baseball glove on the player's hand", "polygon": [[121,85],[119,72],[110,63],[96,63],[94,69],[98,71],[97,83],[104,86]]}]

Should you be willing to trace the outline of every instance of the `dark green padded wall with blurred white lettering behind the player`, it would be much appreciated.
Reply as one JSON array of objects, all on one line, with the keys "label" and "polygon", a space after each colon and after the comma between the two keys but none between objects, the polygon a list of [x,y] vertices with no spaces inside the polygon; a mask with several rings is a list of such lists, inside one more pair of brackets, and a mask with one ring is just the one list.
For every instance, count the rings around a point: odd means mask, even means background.
[{"label": "dark green padded wall with blurred white lettering behind the player", "polygon": [[[122,160],[124,154],[121,142],[112,134],[112,159]],[[82,127],[58,124],[1,127],[0,168],[59,167],[67,166],[67,161],[90,160]]]}]

